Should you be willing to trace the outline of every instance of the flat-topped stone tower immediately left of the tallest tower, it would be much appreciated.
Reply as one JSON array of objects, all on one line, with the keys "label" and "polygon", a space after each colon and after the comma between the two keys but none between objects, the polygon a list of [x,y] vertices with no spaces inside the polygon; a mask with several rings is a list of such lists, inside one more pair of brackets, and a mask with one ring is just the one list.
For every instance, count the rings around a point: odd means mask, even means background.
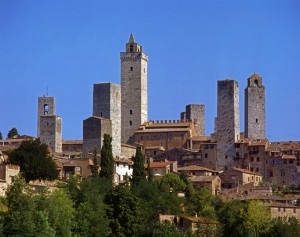
[{"label": "flat-topped stone tower immediately left of the tallest tower", "polygon": [[111,120],[113,156],[121,156],[121,87],[113,83],[94,84],[93,116]]}]

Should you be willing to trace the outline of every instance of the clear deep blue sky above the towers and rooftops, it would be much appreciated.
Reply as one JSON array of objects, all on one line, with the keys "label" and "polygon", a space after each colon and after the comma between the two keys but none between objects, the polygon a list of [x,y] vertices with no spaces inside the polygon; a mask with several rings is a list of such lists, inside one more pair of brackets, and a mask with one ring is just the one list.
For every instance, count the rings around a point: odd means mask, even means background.
[{"label": "clear deep blue sky above the towers and rooftops", "polygon": [[37,98],[56,97],[63,138],[82,139],[97,82],[120,83],[120,52],[132,32],[149,56],[149,120],[179,119],[206,105],[217,114],[217,81],[266,87],[267,137],[300,140],[300,1],[0,1],[0,131],[36,135]]}]

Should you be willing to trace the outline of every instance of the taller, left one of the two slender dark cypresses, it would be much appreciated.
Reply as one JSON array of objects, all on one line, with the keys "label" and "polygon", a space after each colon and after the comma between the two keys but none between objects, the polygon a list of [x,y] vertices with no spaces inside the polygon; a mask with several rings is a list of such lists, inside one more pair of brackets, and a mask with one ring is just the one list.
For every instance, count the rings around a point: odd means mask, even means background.
[{"label": "taller, left one of the two slender dark cypresses", "polygon": [[101,170],[100,177],[113,180],[114,175],[114,159],[112,154],[112,137],[104,134],[103,146],[101,149]]}]

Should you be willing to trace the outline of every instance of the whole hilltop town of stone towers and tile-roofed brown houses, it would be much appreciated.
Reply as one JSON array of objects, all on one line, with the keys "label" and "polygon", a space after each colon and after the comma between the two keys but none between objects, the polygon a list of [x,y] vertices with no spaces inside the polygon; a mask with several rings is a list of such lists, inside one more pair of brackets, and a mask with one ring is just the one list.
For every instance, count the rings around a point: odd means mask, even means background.
[{"label": "whole hilltop town of stone towers and tile-roofed brown houses", "polygon": [[[133,34],[120,53],[120,60],[120,84],[93,85],[93,110],[91,117],[83,120],[82,140],[62,139],[63,118],[56,114],[59,102],[54,96],[38,97],[36,137],[0,140],[2,196],[12,184],[11,177],[20,172],[19,167],[5,161],[24,140],[39,138],[46,144],[57,164],[59,179],[66,181],[71,176],[92,176],[95,153],[101,163],[103,138],[109,134],[116,186],[126,185],[132,176],[132,157],[140,147],[145,171],[149,175],[151,169],[154,179],[169,173],[185,174],[194,188],[207,188],[213,196],[227,201],[261,200],[269,204],[272,218],[293,216],[300,220],[300,206],[293,205],[297,197],[278,197],[273,193],[275,186],[299,188],[300,142],[270,142],[266,138],[265,87],[260,75],[253,73],[245,79],[245,131],[240,131],[238,82],[217,82],[214,132],[206,134],[204,104],[191,102],[182,108],[178,118],[148,120],[148,56]],[[51,186],[47,182],[40,185]],[[177,223],[177,215],[162,214],[171,213],[161,213],[160,221]],[[194,219],[185,221],[193,223]]]}]

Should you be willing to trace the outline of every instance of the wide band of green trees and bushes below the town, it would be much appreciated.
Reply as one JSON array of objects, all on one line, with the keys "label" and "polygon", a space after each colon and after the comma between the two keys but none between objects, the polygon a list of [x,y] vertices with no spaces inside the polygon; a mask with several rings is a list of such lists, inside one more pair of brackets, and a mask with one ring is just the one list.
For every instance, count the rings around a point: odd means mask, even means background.
[{"label": "wide band of green trees and bushes below the town", "polygon": [[[184,176],[177,178],[114,188],[99,176],[82,181],[71,176],[52,192],[33,191],[16,178],[0,199],[0,236],[288,237],[300,232],[297,219],[271,220],[259,201],[224,203],[207,189],[189,186]],[[188,196],[178,197],[187,190]],[[182,231],[175,223],[153,221],[158,214],[197,214],[215,226]]]}]

